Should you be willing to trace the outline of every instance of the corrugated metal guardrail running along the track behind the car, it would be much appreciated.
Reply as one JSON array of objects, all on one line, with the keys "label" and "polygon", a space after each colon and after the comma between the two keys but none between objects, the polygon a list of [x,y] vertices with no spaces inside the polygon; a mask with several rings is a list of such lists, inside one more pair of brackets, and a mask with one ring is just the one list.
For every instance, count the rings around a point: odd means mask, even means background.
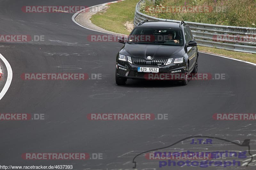
[{"label": "corrugated metal guardrail running along the track behind the car", "polygon": [[[139,24],[142,20],[149,21],[166,21],[166,19],[156,18],[152,16],[148,16],[140,12],[140,5],[144,3],[145,0],[140,0],[140,2],[136,5],[135,15],[134,15],[134,26]],[[167,21],[172,22],[180,22],[177,20],[167,19]],[[219,49],[226,49],[231,51],[238,52],[246,52],[246,53],[255,53],[256,54],[256,28],[248,28],[248,27],[238,27],[238,26],[221,26],[221,25],[213,25],[213,24],[203,24],[196,22],[187,22],[185,21],[194,37],[198,45]],[[223,40],[223,36],[228,37],[250,37],[251,40],[248,41],[233,41],[233,40],[225,40],[225,42],[220,41]],[[218,39],[218,37],[221,37]],[[228,38],[227,37],[227,38]]]}]

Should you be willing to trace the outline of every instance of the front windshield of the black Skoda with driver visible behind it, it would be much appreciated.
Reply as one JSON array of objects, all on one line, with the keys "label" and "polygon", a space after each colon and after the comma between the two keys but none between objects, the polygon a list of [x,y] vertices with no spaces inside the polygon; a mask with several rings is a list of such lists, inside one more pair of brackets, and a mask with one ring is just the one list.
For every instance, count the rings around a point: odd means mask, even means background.
[{"label": "front windshield of the black Skoda with driver visible behind it", "polygon": [[181,30],[163,28],[135,28],[127,43],[183,46]]}]

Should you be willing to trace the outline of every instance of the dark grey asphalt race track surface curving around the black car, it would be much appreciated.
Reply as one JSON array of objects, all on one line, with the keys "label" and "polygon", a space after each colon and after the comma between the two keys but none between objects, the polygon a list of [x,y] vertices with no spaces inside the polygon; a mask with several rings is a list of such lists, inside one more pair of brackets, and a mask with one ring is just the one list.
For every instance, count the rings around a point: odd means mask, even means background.
[{"label": "dark grey asphalt race track surface curving around the black car", "polygon": [[[21,11],[26,5],[93,6],[106,2],[110,1],[0,0],[0,34],[45,37],[45,41],[40,42],[0,42],[0,53],[13,72],[11,86],[0,101],[0,113],[45,115],[45,120],[38,121],[0,121],[0,165],[132,169],[132,159],[140,152],[195,135],[220,137],[237,143],[251,139],[251,153],[255,154],[254,121],[216,121],[212,118],[215,113],[255,113],[254,65],[199,53],[198,72],[225,74],[225,80],[191,80],[188,85],[180,86],[172,81],[129,79],[126,86],[117,86],[115,60],[121,43],[87,41],[88,35],[99,33],[76,25],[71,19],[72,13]],[[2,61],[0,63],[3,65]],[[22,73],[102,74],[102,79],[22,80]],[[0,85],[3,84],[1,81]],[[90,113],[168,114],[168,120],[90,121],[86,118]],[[102,153],[103,159],[21,158],[22,153],[84,152]],[[255,169],[254,161],[240,168]],[[138,169],[149,170],[150,167],[151,164],[137,161]]]}]

